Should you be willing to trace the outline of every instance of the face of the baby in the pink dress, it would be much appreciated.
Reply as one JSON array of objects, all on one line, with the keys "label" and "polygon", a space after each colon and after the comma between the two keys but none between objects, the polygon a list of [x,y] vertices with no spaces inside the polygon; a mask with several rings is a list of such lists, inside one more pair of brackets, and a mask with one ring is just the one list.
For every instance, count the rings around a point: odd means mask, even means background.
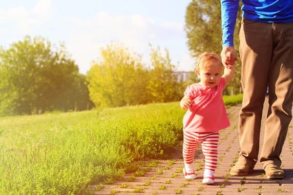
[{"label": "face of the baby in the pink dress", "polygon": [[223,66],[221,63],[210,61],[206,70],[196,71],[200,78],[200,84],[205,87],[213,88],[220,83]]}]

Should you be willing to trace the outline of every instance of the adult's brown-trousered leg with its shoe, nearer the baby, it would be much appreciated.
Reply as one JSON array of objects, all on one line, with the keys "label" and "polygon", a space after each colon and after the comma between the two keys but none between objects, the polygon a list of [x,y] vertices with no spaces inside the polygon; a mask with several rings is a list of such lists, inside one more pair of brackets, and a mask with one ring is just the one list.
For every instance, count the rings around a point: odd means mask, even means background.
[{"label": "adult's brown-trousered leg with its shoe, nearer the baby", "polygon": [[263,104],[272,61],[272,24],[242,20],[239,33],[243,102],[239,113],[241,152],[231,175],[245,176],[257,161]]}]

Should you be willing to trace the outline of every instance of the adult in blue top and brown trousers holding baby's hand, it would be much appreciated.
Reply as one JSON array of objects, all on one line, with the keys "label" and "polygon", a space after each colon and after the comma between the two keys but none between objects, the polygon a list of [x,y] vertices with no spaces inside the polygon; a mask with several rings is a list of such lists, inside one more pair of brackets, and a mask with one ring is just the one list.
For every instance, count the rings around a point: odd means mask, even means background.
[{"label": "adult in blue top and brown trousers holding baby's hand", "polygon": [[[244,92],[239,114],[241,152],[230,174],[245,176],[258,159],[263,103],[269,86],[269,111],[260,163],[268,178],[285,176],[280,154],[292,119],[293,102],[293,0],[242,0],[240,58]],[[233,48],[239,0],[221,0],[224,65]]]}]

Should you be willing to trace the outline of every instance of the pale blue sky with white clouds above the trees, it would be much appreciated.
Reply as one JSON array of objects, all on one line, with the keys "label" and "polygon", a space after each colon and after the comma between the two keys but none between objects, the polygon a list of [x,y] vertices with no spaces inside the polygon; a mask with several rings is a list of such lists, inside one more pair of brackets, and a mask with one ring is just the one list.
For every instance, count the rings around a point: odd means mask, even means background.
[{"label": "pale blue sky with white clouds above the trees", "polygon": [[64,42],[85,74],[100,48],[121,41],[148,63],[153,47],[167,48],[177,70],[194,69],[184,32],[191,0],[11,0],[0,3],[0,45],[42,36]]}]

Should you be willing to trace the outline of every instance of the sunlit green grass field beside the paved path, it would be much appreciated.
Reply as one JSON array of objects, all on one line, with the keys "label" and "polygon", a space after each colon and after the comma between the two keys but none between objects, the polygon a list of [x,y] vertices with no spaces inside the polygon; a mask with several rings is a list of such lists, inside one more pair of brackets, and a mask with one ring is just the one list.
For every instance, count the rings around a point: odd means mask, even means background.
[{"label": "sunlit green grass field beside the paved path", "polygon": [[[224,97],[225,104],[242,96]],[[179,102],[0,118],[0,194],[78,194],[139,160],[167,158],[182,139]],[[132,165],[131,165],[132,164]]]}]

